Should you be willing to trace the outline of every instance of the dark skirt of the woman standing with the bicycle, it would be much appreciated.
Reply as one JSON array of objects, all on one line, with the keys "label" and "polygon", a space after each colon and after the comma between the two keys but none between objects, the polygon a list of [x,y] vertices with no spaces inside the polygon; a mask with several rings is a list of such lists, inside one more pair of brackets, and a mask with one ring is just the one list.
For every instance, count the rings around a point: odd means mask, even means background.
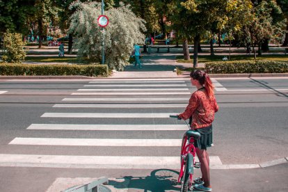
[{"label": "dark skirt of the woman standing with the bicycle", "polygon": [[194,129],[194,131],[198,131],[201,135],[200,139],[195,140],[195,147],[198,147],[200,150],[207,150],[207,147],[211,147],[211,144],[213,143],[212,125]]}]

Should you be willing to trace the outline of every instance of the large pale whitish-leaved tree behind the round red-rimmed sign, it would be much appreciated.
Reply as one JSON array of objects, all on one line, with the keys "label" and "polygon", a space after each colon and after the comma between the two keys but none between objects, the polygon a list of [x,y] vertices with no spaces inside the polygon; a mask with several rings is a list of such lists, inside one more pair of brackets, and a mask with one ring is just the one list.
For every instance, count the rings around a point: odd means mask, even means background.
[{"label": "large pale whitish-leaved tree behind the round red-rimmed sign", "polygon": [[104,39],[105,64],[110,69],[123,70],[128,64],[134,43],[144,42],[144,20],[136,17],[129,7],[120,6],[106,10],[104,15],[109,17],[109,24],[103,38],[103,31],[97,25],[97,18],[101,15],[101,3],[77,2],[72,6],[77,6],[77,11],[71,17],[69,31],[74,33],[76,38],[73,46],[78,49],[77,56],[89,63],[101,63]]}]

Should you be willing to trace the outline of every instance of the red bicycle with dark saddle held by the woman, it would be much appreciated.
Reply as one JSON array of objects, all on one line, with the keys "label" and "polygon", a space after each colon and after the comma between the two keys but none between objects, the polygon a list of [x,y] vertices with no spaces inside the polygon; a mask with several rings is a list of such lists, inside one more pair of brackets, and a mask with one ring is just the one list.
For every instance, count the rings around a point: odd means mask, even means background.
[{"label": "red bicycle with dark saddle held by the woman", "polygon": [[[178,118],[178,115],[170,115],[170,118]],[[179,119],[180,120],[180,119]],[[184,120],[186,122],[186,120]],[[186,125],[189,127],[188,123]],[[195,139],[200,138],[200,133],[189,130],[185,132],[182,138],[181,147],[181,168],[178,177],[178,183],[181,184],[181,191],[191,191],[193,184],[193,169],[200,168],[200,162],[195,162]]]}]

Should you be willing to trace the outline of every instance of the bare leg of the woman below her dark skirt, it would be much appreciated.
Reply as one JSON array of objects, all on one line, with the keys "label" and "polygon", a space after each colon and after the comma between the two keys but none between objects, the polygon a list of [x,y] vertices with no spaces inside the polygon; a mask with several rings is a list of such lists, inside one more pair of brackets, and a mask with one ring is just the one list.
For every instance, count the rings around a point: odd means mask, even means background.
[{"label": "bare leg of the woman below her dark skirt", "polygon": [[204,186],[210,186],[210,170],[209,170],[209,155],[206,150],[200,150],[196,148],[197,157],[200,161],[200,169],[202,173],[202,179],[204,182]]}]

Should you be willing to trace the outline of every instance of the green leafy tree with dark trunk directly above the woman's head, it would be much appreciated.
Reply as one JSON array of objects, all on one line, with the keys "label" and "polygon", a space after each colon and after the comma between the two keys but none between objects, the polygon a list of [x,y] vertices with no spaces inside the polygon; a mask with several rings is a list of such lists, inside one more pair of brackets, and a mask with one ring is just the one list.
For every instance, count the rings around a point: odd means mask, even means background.
[{"label": "green leafy tree with dark trunk directly above the woman's head", "polygon": [[226,1],[173,0],[171,22],[179,37],[184,40],[184,58],[189,59],[186,41],[193,40],[193,67],[198,67],[198,47],[200,40],[211,31],[211,24],[217,22],[225,10]]}]

